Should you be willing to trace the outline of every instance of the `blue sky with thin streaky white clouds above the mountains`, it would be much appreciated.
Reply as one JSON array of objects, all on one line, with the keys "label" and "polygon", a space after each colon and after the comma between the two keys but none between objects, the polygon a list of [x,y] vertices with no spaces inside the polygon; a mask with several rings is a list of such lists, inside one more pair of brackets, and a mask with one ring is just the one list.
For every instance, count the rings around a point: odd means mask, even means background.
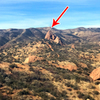
[{"label": "blue sky with thin streaky white clouds above the mountains", "polygon": [[67,6],[54,28],[100,27],[100,0],[0,0],[0,29],[51,27]]}]

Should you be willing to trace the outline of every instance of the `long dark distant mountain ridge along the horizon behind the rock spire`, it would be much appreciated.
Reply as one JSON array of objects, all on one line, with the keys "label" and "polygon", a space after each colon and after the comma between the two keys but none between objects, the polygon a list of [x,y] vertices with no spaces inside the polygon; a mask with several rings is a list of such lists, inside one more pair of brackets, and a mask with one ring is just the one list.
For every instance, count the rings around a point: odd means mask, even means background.
[{"label": "long dark distant mountain ridge along the horizon behind the rock spire", "polygon": [[55,28],[29,28],[29,29],[0,29],[0,47],[6,43],[19,41],[34,41],[44,39],[45,34],[52,30],[53,34],[65,43],[75,41],[100,42],[100,28],[84,28],[58,30]]}]

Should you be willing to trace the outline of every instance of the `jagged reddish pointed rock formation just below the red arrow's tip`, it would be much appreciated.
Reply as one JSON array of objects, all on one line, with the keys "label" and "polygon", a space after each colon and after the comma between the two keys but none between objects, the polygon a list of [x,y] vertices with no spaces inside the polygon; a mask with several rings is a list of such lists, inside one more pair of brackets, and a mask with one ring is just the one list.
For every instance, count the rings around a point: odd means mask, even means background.
[{"label": "jagged reddish pointed rock formation just below the red arrow's tip", "polygon": [[51,30],[49,30],[45,36],[45,39],[53,41],[55,43],[59,43],[59,44],[63,44],[62,41],[60,40],[60,38],[58,36],[56,36],[55,34],[53,34],[53,32]]}]

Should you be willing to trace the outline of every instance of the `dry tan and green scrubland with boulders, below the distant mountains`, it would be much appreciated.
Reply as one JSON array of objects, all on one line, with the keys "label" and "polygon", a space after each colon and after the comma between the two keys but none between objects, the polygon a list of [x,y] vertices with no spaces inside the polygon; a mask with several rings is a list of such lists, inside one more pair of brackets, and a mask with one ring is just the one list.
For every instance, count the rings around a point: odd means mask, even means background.
[{"label": "dry tan and green scrubland with boulders, below the distant mountains", "polygon": [[90,77],[100,67],[99,44],[77,39],[59,43],[38,39],[6,44],[0,50],[0,100],[100,100],[100,77]]}]

